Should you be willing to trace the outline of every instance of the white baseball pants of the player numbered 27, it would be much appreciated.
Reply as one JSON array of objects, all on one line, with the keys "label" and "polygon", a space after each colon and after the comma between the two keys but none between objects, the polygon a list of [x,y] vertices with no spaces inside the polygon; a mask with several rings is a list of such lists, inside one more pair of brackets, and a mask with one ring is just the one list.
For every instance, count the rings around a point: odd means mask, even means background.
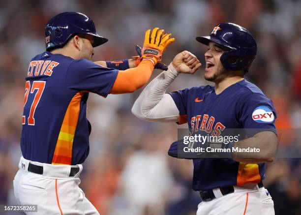
[{"label": "white baseball pants of the player numbered 27", "polygon": [[[43,166],[43,175],[28,171],[29,163]],[[21,157],[19,171],[14,179],[14,194],[18,204],[37,205],[30,215],[99,215],[78,186],[80,171],[69,177],[71,166],[33,162]]]}]

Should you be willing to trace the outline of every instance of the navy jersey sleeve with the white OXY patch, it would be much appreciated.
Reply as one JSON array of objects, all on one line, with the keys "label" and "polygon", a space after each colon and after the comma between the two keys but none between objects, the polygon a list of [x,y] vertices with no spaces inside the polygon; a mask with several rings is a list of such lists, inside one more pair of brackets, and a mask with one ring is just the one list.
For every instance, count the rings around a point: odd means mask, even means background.
[{"label": "navy jersey sleeve with the white OXY patch", "polygon": [[275,134],[275,119],[277,118],[274,105],[268,97],[261,93],[252,93],[244,98],[241,105],[240,122],[248,137],[262,131],[273,131]]}]

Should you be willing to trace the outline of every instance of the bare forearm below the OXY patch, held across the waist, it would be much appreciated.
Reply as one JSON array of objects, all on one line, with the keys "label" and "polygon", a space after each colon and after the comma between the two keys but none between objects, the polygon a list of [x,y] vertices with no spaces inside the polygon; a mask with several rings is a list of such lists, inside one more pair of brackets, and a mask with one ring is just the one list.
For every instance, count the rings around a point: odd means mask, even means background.
[{"label": "bare forearm below the OXY patch, held across the waist", "polygon": [[239,149],[259,149],[259,152],[234,152],[233,159],[244,163],[272,162],[277,149],[277,137],[272,131],[263,131],[234,144]]}]

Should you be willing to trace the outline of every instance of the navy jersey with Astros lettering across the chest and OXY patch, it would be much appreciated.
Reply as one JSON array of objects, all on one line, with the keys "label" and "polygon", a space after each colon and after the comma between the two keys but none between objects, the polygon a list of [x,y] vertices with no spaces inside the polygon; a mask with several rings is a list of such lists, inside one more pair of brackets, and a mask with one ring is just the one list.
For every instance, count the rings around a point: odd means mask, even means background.
[{"label": "navy jersey with Astros lettering across the chest and OXY patch", "polygon": [[[247,137],[260,131],[276,133],[276,112],[271,99],[244,79],[218,95],[209,85],[170,95],[180,111],[178,123],[187,122],[191,133],[220,135],[227,128],[251,128],[245,129]],[[259,183],[266,171],[265,163],[245,164],[229,158],[195,158],[193,165],[194,190]]]}]

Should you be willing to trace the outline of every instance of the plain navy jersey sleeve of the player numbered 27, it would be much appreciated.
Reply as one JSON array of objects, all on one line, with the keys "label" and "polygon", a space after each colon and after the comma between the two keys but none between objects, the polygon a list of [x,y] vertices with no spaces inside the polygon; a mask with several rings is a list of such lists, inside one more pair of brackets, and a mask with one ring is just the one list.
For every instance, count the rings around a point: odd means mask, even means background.
[{"label": "plain navy jersey sleeve of the player numbered 27", "polygon": [[106,97],[118,74],[117,69],[107,68],[86,59],[73,61],[66,73],[66,86],[78,91],[94,92]]}]

